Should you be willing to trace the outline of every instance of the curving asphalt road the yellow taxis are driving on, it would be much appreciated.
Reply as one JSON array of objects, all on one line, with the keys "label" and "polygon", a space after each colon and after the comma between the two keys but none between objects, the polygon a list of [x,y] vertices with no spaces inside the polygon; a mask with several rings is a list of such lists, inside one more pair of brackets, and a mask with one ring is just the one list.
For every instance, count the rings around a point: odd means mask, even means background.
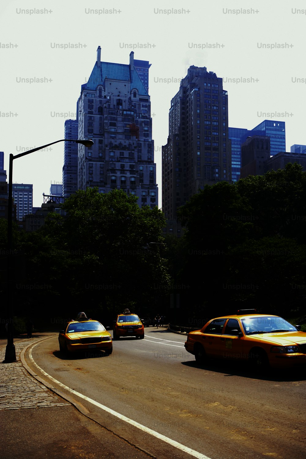
[{"label": "curving asphalt road the yellow taxis are driving on", "polygon": [[33,347],[32,357],[56,381],[96,402],[69,394],[92,419],[156,458],[192,457],[181,445],[203,459],[304,459],[305,372],[256,376],[236,362],[201,366],[185,351],[185,339],[150,327],[144,340],[114,341],[110,356],[63,356],[52,337]]}]

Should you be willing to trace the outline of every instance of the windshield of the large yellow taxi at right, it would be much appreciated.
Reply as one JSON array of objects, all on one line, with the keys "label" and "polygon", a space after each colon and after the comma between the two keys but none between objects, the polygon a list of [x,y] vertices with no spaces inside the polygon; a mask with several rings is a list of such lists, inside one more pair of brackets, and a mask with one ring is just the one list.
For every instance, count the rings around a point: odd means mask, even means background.
[{"label": "windshield of the large yellow taxi at right", "polygon": [[246,335],[297,331],[293,325],[281,317],[246,317],[245,319],[241,319],[241,324]]}]

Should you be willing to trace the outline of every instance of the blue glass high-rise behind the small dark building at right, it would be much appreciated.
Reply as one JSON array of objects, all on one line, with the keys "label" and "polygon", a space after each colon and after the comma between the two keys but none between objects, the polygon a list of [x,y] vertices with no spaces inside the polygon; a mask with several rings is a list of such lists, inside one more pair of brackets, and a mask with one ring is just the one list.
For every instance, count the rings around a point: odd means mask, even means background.
[{"label": "blue glass high-rise behind the small dark building at right", "polygon": [[232,180],[240,178],[241,145],[248,137],[261,135],[270,137],[270,155],[286,150],[285,122],[265,119],[253,129],[228,128],[228,137],[232,143]]}]

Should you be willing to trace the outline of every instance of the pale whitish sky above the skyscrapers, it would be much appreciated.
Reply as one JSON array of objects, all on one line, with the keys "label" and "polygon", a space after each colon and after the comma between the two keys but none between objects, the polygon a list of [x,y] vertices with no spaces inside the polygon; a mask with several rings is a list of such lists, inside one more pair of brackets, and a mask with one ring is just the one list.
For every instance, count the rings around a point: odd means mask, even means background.
[{"label": "pale whitish sky above the skyscrapers", "polygon": [[[161,146],[179,80],[191,65],[223,78],[228,125],[286,123],[286,151],[306,144],[306,3],[302,0],[8,0],[0,4],[0,151],[64,138],[65,119],[96,62],[149,61],[152,138],[161,207]],[[303,9],[304,8],[304,9]],[[33,184],[33,206],[62,183],[64,142],[14,161],[13,182]]]}]

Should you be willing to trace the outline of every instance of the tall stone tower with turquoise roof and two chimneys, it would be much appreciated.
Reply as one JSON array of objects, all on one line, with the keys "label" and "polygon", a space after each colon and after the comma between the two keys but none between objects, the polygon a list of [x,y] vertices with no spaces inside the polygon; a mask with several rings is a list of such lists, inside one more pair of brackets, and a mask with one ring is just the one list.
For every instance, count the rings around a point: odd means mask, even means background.
[{"label": "tall stone tower with turquoise roof and two chimneys", "polygon": [[78,189],[125,190],[139,206],[158,205],[150,96],[134,65],[101,62],[101,48],[78,99]]}]

